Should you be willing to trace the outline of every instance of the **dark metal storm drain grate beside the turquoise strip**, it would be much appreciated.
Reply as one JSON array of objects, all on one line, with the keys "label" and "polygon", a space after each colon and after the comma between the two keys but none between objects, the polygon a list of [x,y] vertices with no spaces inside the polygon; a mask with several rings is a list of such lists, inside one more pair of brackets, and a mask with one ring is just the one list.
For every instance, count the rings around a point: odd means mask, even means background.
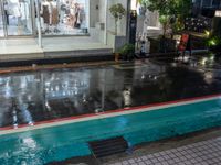
[{"label": "dark metal storm drain grate beside the turquoise strip", "polygon": [[91,151],[96,158],[126,152],[127,141],[123,136],[88,142]]}]

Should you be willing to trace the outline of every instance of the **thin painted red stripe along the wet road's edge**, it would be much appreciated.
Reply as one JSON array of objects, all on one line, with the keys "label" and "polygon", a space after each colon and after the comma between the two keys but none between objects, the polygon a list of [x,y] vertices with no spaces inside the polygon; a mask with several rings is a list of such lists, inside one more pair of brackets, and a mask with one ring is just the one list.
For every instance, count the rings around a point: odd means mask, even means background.
[{"label": "thin painted red stripe along the wet road's edge", "polygon": [[[124,111],[140,110],[140,109],[145,109],[145,108],[169,106],[169,105],[182,103],[182,102],[188,102],[188,101],[197,101],[197,100],[209,99],[209,98],[213,98],[213,97],[221,97],[221,94],[202,96],[202,97],[194,97],[194,98],[189,98],[189,99],[180,99],[180,100],[175,100],[175,101],[159,102],[159,103],[150,103],[150,105],[138,106],[138,107],[133,107],[133,108],[128,108],[128,109],[110,110],[110,111],[106,111],[106,112],[102,112],[102,113],[97,113],[97,114],[96,113],[90,113],[90,114],[82,114],[82,116],[77,116],[77,117],[75,116],[75,117],[52,119],[52,120],[48,120],[48,121],[35,122],[34,125],[42,125],[42,124],[46,124],[46,123],[54,123],[54,122],[69,121],[69,120],[75,120],[75,119],[83,119],[83,118],[96,117],[96,116],[101,116],[101,114],[110,114],[110,113],[117,113],[117,112],[124,112]],[[18,129],[19,128],[25,128],[25,127],[30,127],[30,125],[29,124],[21,124],[21,125],[18,125]],[[6,131],[6,130],[14,130],[14,128],[13,127],[0,128],[0,131]]]}]

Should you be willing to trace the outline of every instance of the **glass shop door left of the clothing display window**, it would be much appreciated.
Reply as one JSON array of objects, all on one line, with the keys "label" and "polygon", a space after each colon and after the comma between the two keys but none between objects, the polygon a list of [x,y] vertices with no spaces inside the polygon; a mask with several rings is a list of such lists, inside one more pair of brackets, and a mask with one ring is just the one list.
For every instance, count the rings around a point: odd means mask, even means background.
[{"label": "glass shop door left of the clothing display window", "polygon": [[3,0],[1,15],[0,23],[2,22],[4,36],[33,34],[31,0]]}]

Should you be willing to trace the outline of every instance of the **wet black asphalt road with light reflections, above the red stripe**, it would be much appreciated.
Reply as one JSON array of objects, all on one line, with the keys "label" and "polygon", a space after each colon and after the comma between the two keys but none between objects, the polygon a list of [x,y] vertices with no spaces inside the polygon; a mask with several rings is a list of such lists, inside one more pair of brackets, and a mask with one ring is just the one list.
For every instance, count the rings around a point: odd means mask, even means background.
[{"label": "wet black asphalt road with light reflections, above the red stripe", "polygon": [[[188,68],[189,67],[189,68]],[[139,62],[0,76],[0,127],[221,91],[221,67]]]}]

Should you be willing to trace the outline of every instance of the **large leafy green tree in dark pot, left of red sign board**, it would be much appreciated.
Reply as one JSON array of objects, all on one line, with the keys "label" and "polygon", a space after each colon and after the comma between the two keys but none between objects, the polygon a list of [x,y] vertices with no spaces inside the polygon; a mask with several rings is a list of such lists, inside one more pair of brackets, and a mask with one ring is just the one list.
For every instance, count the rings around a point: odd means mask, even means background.
[{"label": "large leafy green tree in dark pot, left of red sign board", "polygon": [[[191,0],[141,0],[141,2],[146,3],[149,11],[159,13],[159,22],[162,25],[162,36],[159,38],[160,52],[176,50],[173,32],[183,28],[185,18],[190,13]],[[167,37],[169,30],[171,38]]]}]

